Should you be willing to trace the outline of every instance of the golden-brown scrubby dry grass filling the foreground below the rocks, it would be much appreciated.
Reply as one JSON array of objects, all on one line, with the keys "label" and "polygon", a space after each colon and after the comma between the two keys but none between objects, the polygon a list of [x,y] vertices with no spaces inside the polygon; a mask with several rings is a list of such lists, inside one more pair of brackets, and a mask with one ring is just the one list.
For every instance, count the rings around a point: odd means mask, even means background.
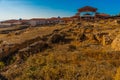
[{"label": "golden-brown scrubby dry grass filling the foreground below the rocks", "polygon": [[[120,53],[48,50],[4,73],[10,80],[114,80]],[[22,71],[21,71],[22,70]],[[117,75],[118,76],[118,73]]]}]

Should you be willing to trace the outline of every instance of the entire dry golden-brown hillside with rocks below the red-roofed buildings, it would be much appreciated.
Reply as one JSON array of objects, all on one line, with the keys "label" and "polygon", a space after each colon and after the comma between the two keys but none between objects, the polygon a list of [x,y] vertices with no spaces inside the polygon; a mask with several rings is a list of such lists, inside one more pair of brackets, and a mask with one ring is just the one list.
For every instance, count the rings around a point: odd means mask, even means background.
[{"label": "entire dry golden-brown hillside with rocks below the red-roofed buildings", "polygon": [[3,80],[119,80],[119,20],[1,29]]}]

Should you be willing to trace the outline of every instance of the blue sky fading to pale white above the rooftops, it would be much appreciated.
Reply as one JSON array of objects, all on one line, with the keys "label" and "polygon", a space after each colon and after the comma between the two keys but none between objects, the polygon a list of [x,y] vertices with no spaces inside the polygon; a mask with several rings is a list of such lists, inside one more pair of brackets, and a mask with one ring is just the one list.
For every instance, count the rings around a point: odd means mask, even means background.
[{"label": "blue sky fading to pale white above the rooftops", "polygon": [[84,6],[98,8],[98,12],[120,13],[120,0],[0,0],[0,20],[69,17]]}]

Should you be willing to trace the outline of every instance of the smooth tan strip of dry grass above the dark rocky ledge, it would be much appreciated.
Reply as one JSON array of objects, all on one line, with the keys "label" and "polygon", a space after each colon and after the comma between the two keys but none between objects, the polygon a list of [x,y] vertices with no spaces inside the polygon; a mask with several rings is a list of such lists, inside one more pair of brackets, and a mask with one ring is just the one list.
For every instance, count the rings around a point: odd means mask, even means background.
[{"label": "smooth tan strip of dry grass above the dark rocky ledge", "polygon": [[34,39],[38,36],[44,36],[51,34],[55,29],[61,29],[61,26],[54,26],[54,27],[34,27],[34,28],[28,28],[20,35],[2,35],[0,36],[1,40],[6,41],[8,43],[21,43],[26,40]]}]

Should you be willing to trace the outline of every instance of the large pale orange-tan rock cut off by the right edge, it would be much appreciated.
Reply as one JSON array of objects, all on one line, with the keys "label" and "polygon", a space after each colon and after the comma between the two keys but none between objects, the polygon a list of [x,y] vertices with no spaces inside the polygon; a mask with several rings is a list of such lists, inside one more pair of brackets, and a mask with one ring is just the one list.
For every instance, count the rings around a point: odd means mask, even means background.
[{"label": "large pale orange-tan rock cut off by the right edge", "polygon": [[115,51],[120,51],[120,35],[118,35],[112,42],[112,48]]}]

